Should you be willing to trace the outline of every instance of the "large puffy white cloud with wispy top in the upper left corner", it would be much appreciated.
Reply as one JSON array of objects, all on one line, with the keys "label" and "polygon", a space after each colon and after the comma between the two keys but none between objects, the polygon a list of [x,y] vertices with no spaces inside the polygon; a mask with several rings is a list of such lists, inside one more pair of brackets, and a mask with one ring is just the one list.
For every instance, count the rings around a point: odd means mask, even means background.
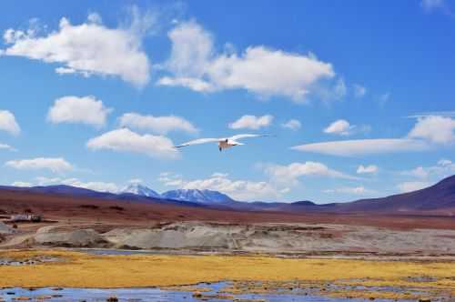
[{"label": "large puffy white cloud with wispy top in the upper left corner", "polygon": [[4,34],[9,46],[2,53],[61,64],[56,69],[61,75],[119,76],[135,86],[145,86],[150,63],[142,50],[144,33],[136,30],[137,24],[147,23],[144,20],[135,15],[129,26],[108,28],[91,14],[80,25],[63,17],[58,30],[46,35],[10,28]]}]

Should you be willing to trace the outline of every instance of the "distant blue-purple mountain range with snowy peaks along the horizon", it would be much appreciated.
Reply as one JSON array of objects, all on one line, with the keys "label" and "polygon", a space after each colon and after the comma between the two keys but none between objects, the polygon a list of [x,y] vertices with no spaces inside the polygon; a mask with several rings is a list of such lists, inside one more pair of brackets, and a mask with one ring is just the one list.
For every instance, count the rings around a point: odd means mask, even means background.
[{"label": "distant blue-purple mountain range with snowy peaks along the horizon", "polygon": [[198,189],[177,189],[158,194],[156,191],[132,184],[122,192],[103,193],[74,186],[34,186],[15,187],[0,186],[1,189],[25,191],[27,193],[54,194],[64,196],[91,197],[98,199],[135,201],[139,203],[158,203],[177,206],[198,206],[212,208],[229,208],[241,211],[302,212],[325,213],[398,213],[418,214],[433,213],[455,215],[455,176],[447,177],[438,184],[418,191],[386,196],[382,198],[361,199],[347,203],[319,205],[311,201],[294,203],[282,202],[240,202],[226,194]]}]

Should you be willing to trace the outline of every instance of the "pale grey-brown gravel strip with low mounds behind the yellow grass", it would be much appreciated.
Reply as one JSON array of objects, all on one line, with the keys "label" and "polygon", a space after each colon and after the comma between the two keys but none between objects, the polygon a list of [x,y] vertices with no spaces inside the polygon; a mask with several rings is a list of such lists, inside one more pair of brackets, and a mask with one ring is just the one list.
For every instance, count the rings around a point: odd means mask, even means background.
[{"label": "pale grey-brown gravel strip with low mounds behind the yellow grass", "polygon": [[[1,227],[1,226],[0,226]],[[215,224],[173,223],[162,227],[59,231],[42,227],[36,233],[10,235],[4,247],[89,247],[126,249],[186,249],[214,252],[372,253],[447,256],[455,251],[455,231],[393,230],[325,224]]]}]

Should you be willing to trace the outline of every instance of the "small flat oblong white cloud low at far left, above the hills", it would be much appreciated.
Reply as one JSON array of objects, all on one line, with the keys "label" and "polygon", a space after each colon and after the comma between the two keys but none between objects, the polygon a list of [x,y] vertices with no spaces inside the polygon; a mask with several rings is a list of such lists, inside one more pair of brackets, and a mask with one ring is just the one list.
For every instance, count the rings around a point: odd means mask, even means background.
[{"label": "small flat oblong white cloud low at far left, above the hills", "polygon": [[5,163],[5,166],[11,166],[19,170],[47,169],[55,173],[74,169],[74,166],[62,157],[37,157],[32,159],[10,160]]}]

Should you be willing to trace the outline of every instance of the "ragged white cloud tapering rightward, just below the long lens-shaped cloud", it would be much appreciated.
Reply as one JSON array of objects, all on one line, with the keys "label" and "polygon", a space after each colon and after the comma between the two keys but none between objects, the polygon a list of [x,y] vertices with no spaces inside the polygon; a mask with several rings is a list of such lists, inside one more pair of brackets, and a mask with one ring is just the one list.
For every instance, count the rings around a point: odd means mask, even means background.
[{"label": "ragged white cloud tapering rightward, just below the long lens-shaped cloud", "polygon": [[288,166],[266,165],[264,171],[270,178],[281,184],[297,184],[300,176],[327,176],[344,179],[357,179],[318,162],[292,163]]}]

